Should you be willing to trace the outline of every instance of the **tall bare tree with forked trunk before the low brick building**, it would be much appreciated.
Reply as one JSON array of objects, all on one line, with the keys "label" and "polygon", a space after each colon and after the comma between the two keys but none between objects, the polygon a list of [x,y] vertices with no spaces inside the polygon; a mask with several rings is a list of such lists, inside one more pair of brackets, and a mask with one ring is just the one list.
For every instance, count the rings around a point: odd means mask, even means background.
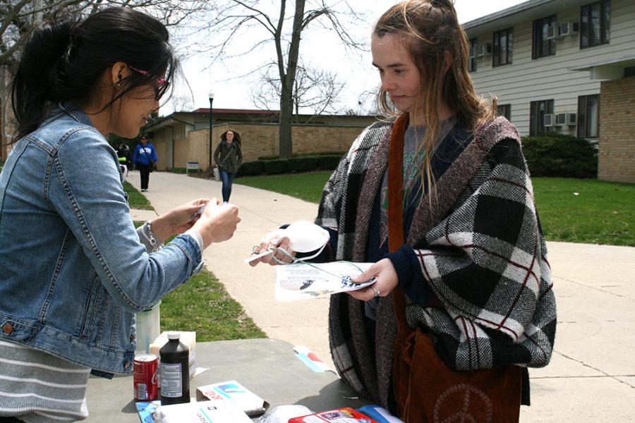
[{"label": "tall bare tree with forked trunk before the low brick building", "polygon": [[[266,44],[274,45],[280,87],[279,154],[282,158],[289,158],[293,154],[291,123],[294,115],[294,86],[303,32],[309,25],[334,31],[346,48],[361,49],[364,44],[350,35],[344,22],[354,25],[362,16],[353,11],[346,0],[296,0],[292,13],[286,10],[286,0],[279,0],[276,10],[268,1],[228,0],[227,3],[227,6],[217,6],[210,13],[212,18],[208,21],[208,27],[213,28],[216,37],[221,35],[222,41],[208,44],[207,51],[212,53],[214,59],[222,60],[224,57],[236,57],[261,49]],[[290,29],[287,29],[288,25],[291,25]],[[253,39],[252,47],[248,51],[228,54],[232,42],[246,34]]]}]

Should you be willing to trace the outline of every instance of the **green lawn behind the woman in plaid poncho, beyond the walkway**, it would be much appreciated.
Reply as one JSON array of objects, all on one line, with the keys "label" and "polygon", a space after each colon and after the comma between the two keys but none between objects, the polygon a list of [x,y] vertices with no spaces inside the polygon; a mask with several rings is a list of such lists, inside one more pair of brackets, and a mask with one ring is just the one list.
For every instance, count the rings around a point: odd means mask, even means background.
[{"label": "green lawn behind the woman in plaid poncho, beyond the walkway", "polygon": [[[330,173],[253,176],[236,183],[317,203]],[[569,178],[532,182],[547,240],[635,247],[635,184]]]}]

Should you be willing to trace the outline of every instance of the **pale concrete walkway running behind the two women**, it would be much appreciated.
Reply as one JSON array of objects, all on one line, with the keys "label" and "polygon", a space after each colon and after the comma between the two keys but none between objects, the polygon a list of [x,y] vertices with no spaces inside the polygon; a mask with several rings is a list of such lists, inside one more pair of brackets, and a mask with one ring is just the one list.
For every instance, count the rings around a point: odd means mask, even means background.
[{"label": "pale concrete walkway running behind the two women", "polygon": [[[138,172],[127,180],[140,188]],[[145,195],[161,214],[198,197],[220,197],[220,191],[221,183],[213,180],[155,172]],[[234,238],[205,250],[207,269],[267,336],[306,345],[332,365],[328,300],[277,302],[275,268],[243,263],[267,231],[312,220],[317,204],[236,183],[231,202],[240,207],[242,221]],[[156,215],[132,214],[134,220]],[[521,407],[521,422],[634,422],[635,248],[548,243],[548,250],[558,307],[556,345],[548,367],[530,369],[532,406]]]}]

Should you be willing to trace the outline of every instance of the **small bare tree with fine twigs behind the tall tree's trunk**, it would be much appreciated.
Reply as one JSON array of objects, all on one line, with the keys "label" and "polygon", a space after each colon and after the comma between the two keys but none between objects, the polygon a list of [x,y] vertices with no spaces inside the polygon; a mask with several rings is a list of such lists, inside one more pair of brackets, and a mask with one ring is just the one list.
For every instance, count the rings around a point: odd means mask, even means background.
[{"label": "small bare tree with fine twigs behind the tall tree's trunk", "polygon": [[[274,63],[261,73],[262,83],[251,92],[253,103],[263,109],[270,109],[274,99],[282,97],[282,83],[272,68],[275,68]],[[334,73],[298,65],[291,96],[296,123],[301,109],[310,110],[313,116],[336,113],[343,89],[344,82],[340,82]]]}]

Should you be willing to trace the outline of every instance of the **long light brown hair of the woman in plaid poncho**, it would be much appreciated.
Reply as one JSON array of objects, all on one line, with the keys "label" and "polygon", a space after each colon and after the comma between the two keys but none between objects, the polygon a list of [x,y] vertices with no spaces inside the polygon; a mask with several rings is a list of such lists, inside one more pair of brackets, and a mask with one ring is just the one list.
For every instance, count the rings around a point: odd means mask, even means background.
[{"label": "long light brown hair of the woman in plaid poncho", "polygon": [[[495,117],[496,99],[488,104],[479,97],[468,72],[468,38],[459,25],[451,0],[405,0],[389,8],[375,24],[373,35],[386,34],[404,39],[406,50],[417,67],[421,82],[411,121],[421,121],[425,133],[417,153],[423,152],[421,186],[434,183],[430,155],[440,135],[440,104],[446,105],[457,121],[476,130]],[[452,56],[446,70],[446,52]],[[387,116],[399,113],[389,102],[387,92],[380,89],[377,97],[380,111]],[[423,110],[423,116],[415,116]]]}]

